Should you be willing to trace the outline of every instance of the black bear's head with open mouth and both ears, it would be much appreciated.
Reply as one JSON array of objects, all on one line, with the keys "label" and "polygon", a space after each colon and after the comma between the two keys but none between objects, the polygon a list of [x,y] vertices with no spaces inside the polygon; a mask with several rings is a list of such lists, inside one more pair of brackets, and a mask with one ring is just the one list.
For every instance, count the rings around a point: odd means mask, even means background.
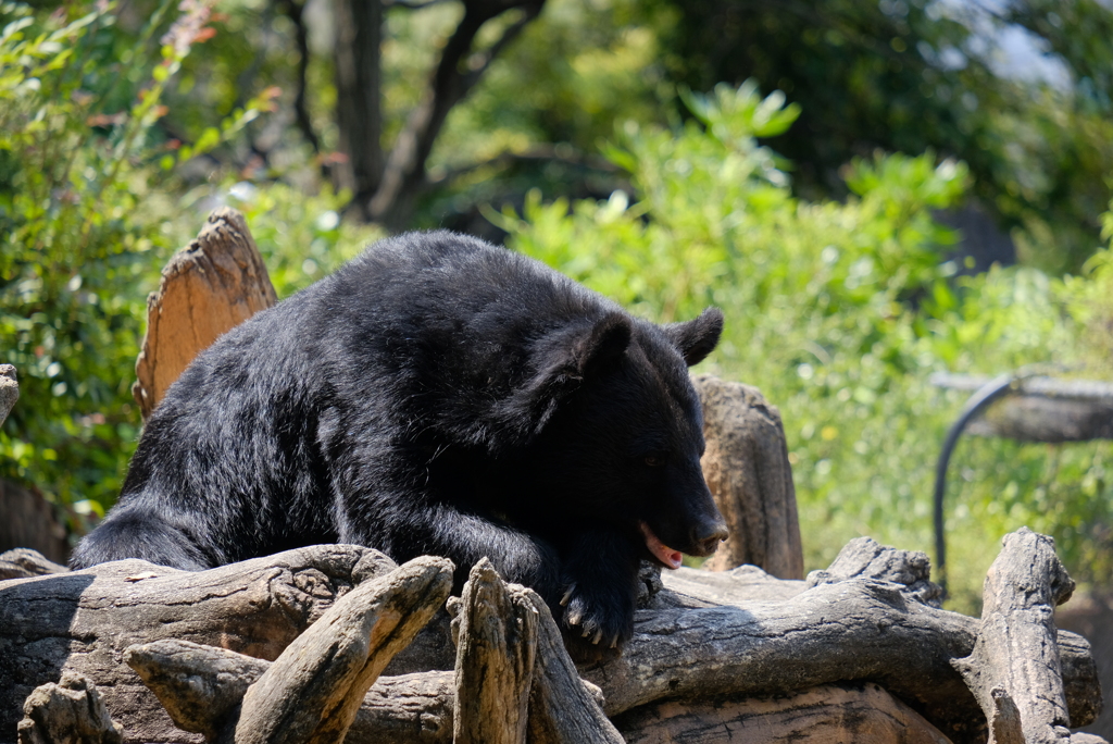
[{"label": "black bear's head with open mouth and both ears", "polygon": [[680,552],[715,551],[727,531],[700,469],[703,420],[688,366],[721,331],[716,307],[666,326],[615,310],[546,340],[519,399],[536,432],[535,493],[523,498],[540,519],[618,527],[669,568]]}]

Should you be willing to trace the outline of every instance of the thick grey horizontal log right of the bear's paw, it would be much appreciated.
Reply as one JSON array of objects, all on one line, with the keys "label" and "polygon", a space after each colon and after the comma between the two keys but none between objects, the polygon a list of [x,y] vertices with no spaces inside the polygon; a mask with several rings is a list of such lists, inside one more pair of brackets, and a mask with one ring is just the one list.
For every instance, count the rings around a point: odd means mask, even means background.
[{"label": "thick grey horizontal log right of the bear's paw", "polygon": [[[696,597],[696,609],[641,610],[623,656],[585,676],[603,689],[612,716],[654,699],[699,699],[710,689],[722,697],[769,695],[871,681],[955,741],[977,741],[985,717],[951,659],[971,653],[978,621],[920,600],[923,554],[889,548],[883,552],[894,555],[884,556],[874,546],[853,542],[833,564],[841,568],[827,571],[827,580],[863,578],[817,584],[784,601],[708,608]],[[881,566],[889,567],[888,580],[876,576]],[[680,601],[654,597],[651,606]],[[1071,718],[1086,725],[1101,704],[1089,644],[1067,633],[1057,643]]]}]

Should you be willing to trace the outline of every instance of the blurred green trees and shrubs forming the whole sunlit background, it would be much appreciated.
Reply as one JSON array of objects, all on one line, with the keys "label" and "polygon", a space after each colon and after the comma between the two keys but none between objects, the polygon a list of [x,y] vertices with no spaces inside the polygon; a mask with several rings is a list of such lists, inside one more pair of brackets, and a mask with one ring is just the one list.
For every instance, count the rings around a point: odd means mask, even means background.
[{"label": "blurred green trees and shrubs forming the whole sunlit background", "polygon": [[[934,373],[1113,379],[1109,0],[6,1],[0,27],[0,483],[62,559],[136,444],[146,296],[220,204],[279,297],[443,226],[658,322],[719,305],[700,369],[779,407],[809,570],[859,535],[934,557],[969,395]],[[979,611],[1022,525],[1107,586],[1109,440],[965,437],[949,472],[948,607]]]}]

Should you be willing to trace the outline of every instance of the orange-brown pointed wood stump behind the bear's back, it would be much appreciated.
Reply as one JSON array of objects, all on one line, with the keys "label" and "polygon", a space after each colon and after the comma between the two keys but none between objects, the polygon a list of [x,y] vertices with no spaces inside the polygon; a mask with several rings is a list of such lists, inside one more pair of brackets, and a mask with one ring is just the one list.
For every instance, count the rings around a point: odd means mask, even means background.
[{"label": "orange-brown pointed wood stump behind the bear's back", "polygon": [[162,270],[131,388],[146,421],[170,384],[221,334],[277,302],[244,215],[220,207]]}]

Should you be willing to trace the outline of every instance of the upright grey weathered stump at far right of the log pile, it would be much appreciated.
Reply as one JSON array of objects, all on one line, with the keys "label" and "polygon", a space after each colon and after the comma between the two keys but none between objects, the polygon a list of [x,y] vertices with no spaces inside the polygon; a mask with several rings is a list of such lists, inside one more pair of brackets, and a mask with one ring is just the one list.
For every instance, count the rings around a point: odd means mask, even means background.
[{"label": "upright grey weathered stump at far right of the log pile", "polygon": [[1067,741],[1054,613],[1074,581],[1050,537],[1022,528],[1003,544],[985,579],[974,650],[953,664],[985,712],[991,744]]}]

